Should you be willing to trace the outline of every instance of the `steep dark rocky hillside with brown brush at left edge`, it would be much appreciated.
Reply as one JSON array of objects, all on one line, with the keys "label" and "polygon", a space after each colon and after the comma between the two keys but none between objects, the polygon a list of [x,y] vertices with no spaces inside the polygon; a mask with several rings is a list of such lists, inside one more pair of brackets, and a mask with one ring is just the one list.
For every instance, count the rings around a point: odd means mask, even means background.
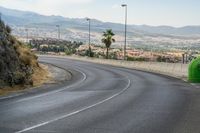
[{"label": "steep dark rocky hillside with brown brush at left edge", "polygon": [[32,74],[39,68],[37,57],[11,35],[0,21],[0,88],[32,85]]}]

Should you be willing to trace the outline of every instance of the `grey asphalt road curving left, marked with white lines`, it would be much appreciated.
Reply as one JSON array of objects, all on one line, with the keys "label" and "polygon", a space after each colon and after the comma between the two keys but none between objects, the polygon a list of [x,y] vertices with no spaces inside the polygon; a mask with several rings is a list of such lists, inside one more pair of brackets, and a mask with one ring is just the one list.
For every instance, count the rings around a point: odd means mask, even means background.
[{"label": "grey asphalt road curving left, marked with white lines", "polygon": [[0,100],[1,133],[200,133],[200,90],[119,67],[40,57],[71,81]]}]

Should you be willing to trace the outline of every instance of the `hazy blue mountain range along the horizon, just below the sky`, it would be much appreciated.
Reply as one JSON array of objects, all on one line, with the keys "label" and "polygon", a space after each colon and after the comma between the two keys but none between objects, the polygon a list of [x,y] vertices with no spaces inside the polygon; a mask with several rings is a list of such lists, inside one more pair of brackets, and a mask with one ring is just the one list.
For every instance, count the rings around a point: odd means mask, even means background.
[{"label": "hazy blue mountain range along the horizon, just below the sky", "polygon": [[[86,30],[87,22],[85,18],[66,18],[62,16],[45,16],[29,11],[19,11],[0,7],[3,20],[9,25],[14,26],[53,26],[56,24],[62,27],[75,28]],[[171,20],[173,21],[173,20]],[[94,31],[102,31],[102,29],[111,28],[114,31],[123,31],[123,24],[102,22],[99,20],[92,20]],[[129,25],[128,31],[138,34],[162,34],[162,35],[176,35],[176,36],[194,36],[200,35],[200,26],[185,26],[175,28],[171,26],[148,26],[148,25]]]}]

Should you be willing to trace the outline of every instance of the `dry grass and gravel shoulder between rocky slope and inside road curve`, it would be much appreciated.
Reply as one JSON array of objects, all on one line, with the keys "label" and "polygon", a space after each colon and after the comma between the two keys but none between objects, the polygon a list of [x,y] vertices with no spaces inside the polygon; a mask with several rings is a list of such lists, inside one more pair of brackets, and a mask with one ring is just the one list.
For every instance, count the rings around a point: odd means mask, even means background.
[{"label": "dry grass and gravel shoulder between rocky slope and inside road curve", "polygon": [[[39,79],[37,79],[33,86],[15,86],[14,88],[8,88],[11,90],[0,95],[0,100],[20,96],[33,90],[46,88],[45,86],[49,86],[51,84],[59,84],[69,81],[72,78],[72,74],[65,69],[47,63],[41,63],[40,65],[47,71],[47,73],[41,73],[41,75],[46,74],[45,76],[41,76]],[[34,78],[36,77],[38,77],[38,74]]]}]

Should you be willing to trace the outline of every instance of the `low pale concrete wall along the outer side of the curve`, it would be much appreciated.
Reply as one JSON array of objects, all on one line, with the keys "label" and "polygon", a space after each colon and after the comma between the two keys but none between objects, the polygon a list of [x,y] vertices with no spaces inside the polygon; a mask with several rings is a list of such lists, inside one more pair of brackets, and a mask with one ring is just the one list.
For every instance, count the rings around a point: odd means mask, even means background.
[{"label": "low pale concrete wall along the outer side of the curve", "polygon": [[89,57],[79,56],[55,56],[55,55],[38,55],[44,57],[56,57],[56,58],[67,58],[78,61],[86,61],[91,63],[98,63],[103,65],[112,65],[117,67],[124,67],[134,70],[140,70],[145,72],[152,72],[161,75],[166,75],[181,79],[187,82],[188,76],[188,65],[181,63],[160,63],[160,62],[136,62],[136,61],[121,61],[121,60],[106,60]]}]

